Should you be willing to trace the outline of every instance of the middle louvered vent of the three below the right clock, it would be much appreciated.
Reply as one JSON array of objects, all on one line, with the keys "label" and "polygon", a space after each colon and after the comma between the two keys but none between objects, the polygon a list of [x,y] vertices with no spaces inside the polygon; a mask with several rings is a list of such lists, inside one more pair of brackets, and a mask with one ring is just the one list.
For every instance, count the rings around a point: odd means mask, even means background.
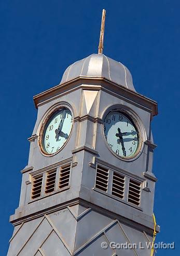
[{"label": "middle louvered vent of the three below the right clock", "polygon": [[125,181],[124,176],[122,176],[116,172],[113,173],[112,195],[123,199],[123,197],[124,197],[124,181]]}]

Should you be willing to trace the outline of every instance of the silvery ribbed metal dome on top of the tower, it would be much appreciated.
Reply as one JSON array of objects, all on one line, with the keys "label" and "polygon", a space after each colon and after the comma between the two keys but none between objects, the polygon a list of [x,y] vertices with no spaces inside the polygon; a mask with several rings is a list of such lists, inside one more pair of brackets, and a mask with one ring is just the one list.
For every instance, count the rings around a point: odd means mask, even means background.
[{"label": "silvery ribbed metal dome on top of the tower", "polygon": [[122,63],[104,54],[91,54],[74,62],[65,70],[60,84],[78,76],[104,77],[135,91],[130,71]]}]

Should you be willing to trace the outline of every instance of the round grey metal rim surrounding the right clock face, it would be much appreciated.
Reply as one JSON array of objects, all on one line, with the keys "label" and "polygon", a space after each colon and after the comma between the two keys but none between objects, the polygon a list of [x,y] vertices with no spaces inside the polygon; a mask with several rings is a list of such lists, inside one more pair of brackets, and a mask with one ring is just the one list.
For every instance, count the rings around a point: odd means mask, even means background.
[{"label": "round grey metal rim surrounding the right clock face", "polygon": [[108,150],[113,153],[113,155],[115,157],[117,157],[118,159],[121,159],[123,161],[134,161],[135,159],[137,159],[142,151],[143,151],[143,147],[144,147],[144,141],[146,140],[146,134],[145,134],[145,130],[144,130],[144,126],[141,122],[141,119],[137,116],[136,113],[134,113],[134,111],[126,106],[121,106],[121,105],[115,105],[115,106],[111,106],[108,107],[105,112],[103,113],[103,118],[102,120],[105,119],[105,117],[110,113],[110,112],[121,112],[122,114],[124,114],[124,116],[127,116],[127,118],[129,118],[133,125],[136,127],[138,135],[139,135],[139,146],[137,147],[134,155],[130,156],[130,157],[123,157],[123,156],[118,156],[108,145],[105,134],[104,134],[104,121],[102,123],[102,133],[103,133],[103,137],[105,140],[105,144],[108,148]]}]

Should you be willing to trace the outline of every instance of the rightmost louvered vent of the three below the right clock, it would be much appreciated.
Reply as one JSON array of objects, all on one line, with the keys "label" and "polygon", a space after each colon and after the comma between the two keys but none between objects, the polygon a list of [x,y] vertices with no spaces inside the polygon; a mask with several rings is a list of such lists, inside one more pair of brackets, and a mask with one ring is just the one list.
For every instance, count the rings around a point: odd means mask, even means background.
[{"label": "rightmost louvered vent of the three below the right clock", "polygon": [[136,204],[136,206],[139,206],[140,196],[141,196],[141,183],[130,179],[128,202],[134,203]]}]

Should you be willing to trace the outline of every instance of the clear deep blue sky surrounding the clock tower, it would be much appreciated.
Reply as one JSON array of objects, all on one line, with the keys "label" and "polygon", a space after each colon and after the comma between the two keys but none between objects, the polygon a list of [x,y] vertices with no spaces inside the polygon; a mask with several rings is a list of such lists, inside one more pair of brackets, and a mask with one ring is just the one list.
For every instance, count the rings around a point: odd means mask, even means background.
[{"label": "clear deep blue sky surrounding the clock tower", "polygon": [[121,61],[136,91],[158,101],[153,120],[157,241],[179,247],[179,43],[177,0],[0,0],[1,239],[8,250],[18,207],[21,173],[36,120],[33,95],[57,85],[66,67],[97,52],[101,11],[107,11],[104,54]]}]

